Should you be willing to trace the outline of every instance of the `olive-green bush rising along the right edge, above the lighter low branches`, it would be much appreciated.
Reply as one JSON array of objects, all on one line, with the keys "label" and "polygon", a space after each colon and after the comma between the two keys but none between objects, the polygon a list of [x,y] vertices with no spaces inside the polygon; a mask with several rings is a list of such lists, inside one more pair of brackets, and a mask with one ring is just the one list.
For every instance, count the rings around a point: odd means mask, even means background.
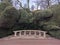
[{"label": "olive-green bush rising along the right edge, above the lighter low branches", "polygon": [[54,14],[53,21],[55,21],[60,26],[60,5],[54,6],[51,10]]}]

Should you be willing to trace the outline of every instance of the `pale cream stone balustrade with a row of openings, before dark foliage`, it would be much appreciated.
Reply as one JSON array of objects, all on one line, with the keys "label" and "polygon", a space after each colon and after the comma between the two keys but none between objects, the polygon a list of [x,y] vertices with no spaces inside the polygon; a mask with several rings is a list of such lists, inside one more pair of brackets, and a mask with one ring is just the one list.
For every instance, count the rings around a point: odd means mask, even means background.
[{"label": "pale cream stone balustrade with a row of openings, before dark foliage", "polygon": [[42,38],[46,38],[46,32],[45,31],[40,31],[40,30],[19,30],[19,31],[13,31],[14,32],[14,36],[17,37],[42,37]]}]

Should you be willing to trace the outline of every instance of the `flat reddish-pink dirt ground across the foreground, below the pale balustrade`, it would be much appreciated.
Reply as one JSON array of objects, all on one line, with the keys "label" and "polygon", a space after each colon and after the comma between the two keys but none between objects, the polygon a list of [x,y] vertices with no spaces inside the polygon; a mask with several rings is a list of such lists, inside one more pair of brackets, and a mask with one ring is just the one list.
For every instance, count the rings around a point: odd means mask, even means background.
[{"label": "flat reddish-pink dirt ground across the foreground, below the pale balustrade", "polygon": [[60,45],[58,39],[0,39],[0,45]]}]

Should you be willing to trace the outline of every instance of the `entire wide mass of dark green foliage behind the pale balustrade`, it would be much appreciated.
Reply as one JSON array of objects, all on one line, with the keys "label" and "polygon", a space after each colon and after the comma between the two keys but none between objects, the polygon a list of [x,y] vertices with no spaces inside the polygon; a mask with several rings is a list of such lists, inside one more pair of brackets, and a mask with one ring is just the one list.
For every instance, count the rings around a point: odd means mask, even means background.
[{"label": "entire wide mass of dark green foliage behind the pale balustrade", "polygon": [[[3,8],[2,8],[3,7]],[[16,10],[14,7],[0,4],[0,38],[13,34],[14,30],[43,30],[60,39],[60,5],[47,10]]]}]

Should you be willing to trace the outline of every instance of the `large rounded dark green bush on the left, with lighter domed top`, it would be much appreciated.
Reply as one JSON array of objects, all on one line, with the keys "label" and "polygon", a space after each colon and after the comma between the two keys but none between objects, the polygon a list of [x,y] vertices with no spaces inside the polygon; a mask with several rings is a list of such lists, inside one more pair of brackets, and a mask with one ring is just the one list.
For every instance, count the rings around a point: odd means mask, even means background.
[{"label": "large rounded dark green bush on the left, with lighter domed top", "polygon": [[0,18],[0,26],[11,28],[16,22],[19,14],[18,11],[14,7],[7,7],[1,15]]}]

